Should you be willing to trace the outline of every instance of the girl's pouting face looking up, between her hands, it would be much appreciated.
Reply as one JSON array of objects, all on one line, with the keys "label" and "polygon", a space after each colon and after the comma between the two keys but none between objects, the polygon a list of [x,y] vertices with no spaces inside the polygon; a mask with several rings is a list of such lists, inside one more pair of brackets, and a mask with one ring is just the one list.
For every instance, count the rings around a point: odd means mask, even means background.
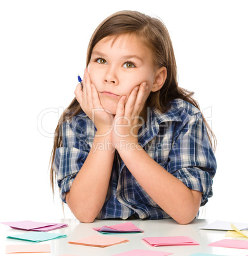
[{"label": "girl's pouting face looking up, between her hands", "polygon": [[134,87],[146,82],[147,99],[155,80],[152,53],[135,34],[101,39],[93,48],[88,73],[103,108],[113,115],[121,96],[128,99]]}]

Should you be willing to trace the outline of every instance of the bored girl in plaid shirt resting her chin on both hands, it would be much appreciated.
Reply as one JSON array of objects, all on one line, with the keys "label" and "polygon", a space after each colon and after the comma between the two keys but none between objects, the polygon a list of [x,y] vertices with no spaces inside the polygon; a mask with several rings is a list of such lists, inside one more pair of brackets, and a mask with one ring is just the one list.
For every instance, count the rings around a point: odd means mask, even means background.
[{"label": "bored girl in plaid shirt resting her chin on both hands", "polygon": [[176,77],[170,36],[157,18],[120,11],[97,27],[83,88],[60,117],[52,152],[52,185],[55,172],[78,220],[188,224],[212,196],[207,124]]}]

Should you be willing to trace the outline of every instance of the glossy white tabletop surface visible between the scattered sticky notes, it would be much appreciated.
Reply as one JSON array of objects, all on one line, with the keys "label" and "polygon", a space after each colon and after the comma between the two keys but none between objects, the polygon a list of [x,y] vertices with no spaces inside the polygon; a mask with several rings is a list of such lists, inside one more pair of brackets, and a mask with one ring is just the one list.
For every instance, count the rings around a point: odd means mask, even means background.
[{"label": "glossy white tabletop surface visible between the scattered sticky notes", "polygon": [[[38,220],[36,220],[38,221]],[[245,256],[248,255],[248,250],[244,249],[233,249],[233,248],[220,248],[207,246],[209,243],[225,239],[226,231],[210,231],[199,229],[203,225],[207,225],[211,220],[193,220],[191,224],[188,225],[179,225],[174,220],[131,220],[140,229],[144,230],[142,233],[136,234],[101,234],[97,231],[94,231],[92,227],[101,227],[102,225],[114,225],[120,224],[121,222],[127,222],[125,220],[95,220],[91,224],[80,223],[76,219],[62,219],[62,220],[39,220],[40,222],[58,222],[66,223],[68,227],[63,229],[57,229],[55,231],[50,231],[54,233],[67,234],[67,238],[54,239],[50,241],[44,241],[41,243],[50,243],[52,253],[25,253],[25,255],[54,255],[58,256],[61,254],[72,254],[72,255],[100,255],[100,256],[111,256],[116,253],[127,252],[128,250],[134,249],[143,249],[143,250],[155,250],[161,252],[172,252],[172,256],[188,256],[192,253],[205,252],[219,255],[237,255]],[[6,236],[13,234],[22,234],[27,231],[20,231],[17,229],[11,229],[10,227],[0,224],[0,255],[24,255],[24,253],[18,254],[6,254],[5,247],[6,245],[13,244],[30,244],[31,242],[27,241],[18,241],[15,239],[7,239]],[[128,243],[122,243],[120,245],[113,245],[106,248],[98,248],[93,246],[83,246],[83,245],[72,245],[68,241],[73,239],[80,239],[86,236],[91,236],[93,234],[99,234],[99,236],[118,236],[127,238],[130,240]],[[141,238],[149,236],[189,236],[200,245],[192,246],[159,246],[153,247],[150,246],[145,241],[142,241]],[[242,239],[242,238],[240,238]],[[34,243],[32,243],[34,244]]]}]

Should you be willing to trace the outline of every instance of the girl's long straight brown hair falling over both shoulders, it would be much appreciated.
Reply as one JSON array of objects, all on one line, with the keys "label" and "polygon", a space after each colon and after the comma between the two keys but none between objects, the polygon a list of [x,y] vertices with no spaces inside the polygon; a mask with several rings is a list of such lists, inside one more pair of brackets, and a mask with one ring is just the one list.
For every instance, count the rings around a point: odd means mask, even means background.
[{"label": "girl's long straight brown hair falling over both shoulders", "polygon": [[[170,40],[169,32],[159,18],[150,17],[139,11],[118,11],[113,15],[107,17],[100,23],[95,29],[88,45],[86,66],[90,62],[92,50],[94,46],[103,38],[107,36],[115,36],[116,38],[120,34],[136,34],[141,42],[146,45],[153,53],[154,65],[156,68],[167,68],[167,79],[162,89],[157,92],[151,92],[146,101],[146,107],[155,107],[159,111],[166,113],[170,108],[170,102],[173,99],[183,99],[188,103],[193,104],[200,110],[198,103],[193,99],[193,92],[189,92],[178,86],[177,84],[177,66]],[[62,113],[59,124],[55,129],[54,145],[52,155],[50,159],[51,169],[50,178],[53,188],[53,161],[55,157],[55,151],[62,146],[62,133],[60,131],[60,125],[66,120],[71,119],[81,111],[81,107],[76,100],[76,97],[72,100],[72,103]],[[209,141],[214,147],[216,145],[216,138],[203,117],[205,125],[208,130]]]}]

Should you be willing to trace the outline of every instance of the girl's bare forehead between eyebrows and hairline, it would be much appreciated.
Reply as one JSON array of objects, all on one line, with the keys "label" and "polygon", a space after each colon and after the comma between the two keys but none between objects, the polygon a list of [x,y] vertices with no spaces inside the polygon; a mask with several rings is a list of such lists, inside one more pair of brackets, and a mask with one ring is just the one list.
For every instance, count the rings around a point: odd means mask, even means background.
[{"label": "girl's bare forehead between eyebrows and hairline", "polygon": [[136,34],[120,34],[114,36],[107,36],[101,39],[93,48],[94,51],[106,51],[111,50],[128,54],[128,55],[141,55],[151,58],[152,53],[149,48],[144,45]]}]

